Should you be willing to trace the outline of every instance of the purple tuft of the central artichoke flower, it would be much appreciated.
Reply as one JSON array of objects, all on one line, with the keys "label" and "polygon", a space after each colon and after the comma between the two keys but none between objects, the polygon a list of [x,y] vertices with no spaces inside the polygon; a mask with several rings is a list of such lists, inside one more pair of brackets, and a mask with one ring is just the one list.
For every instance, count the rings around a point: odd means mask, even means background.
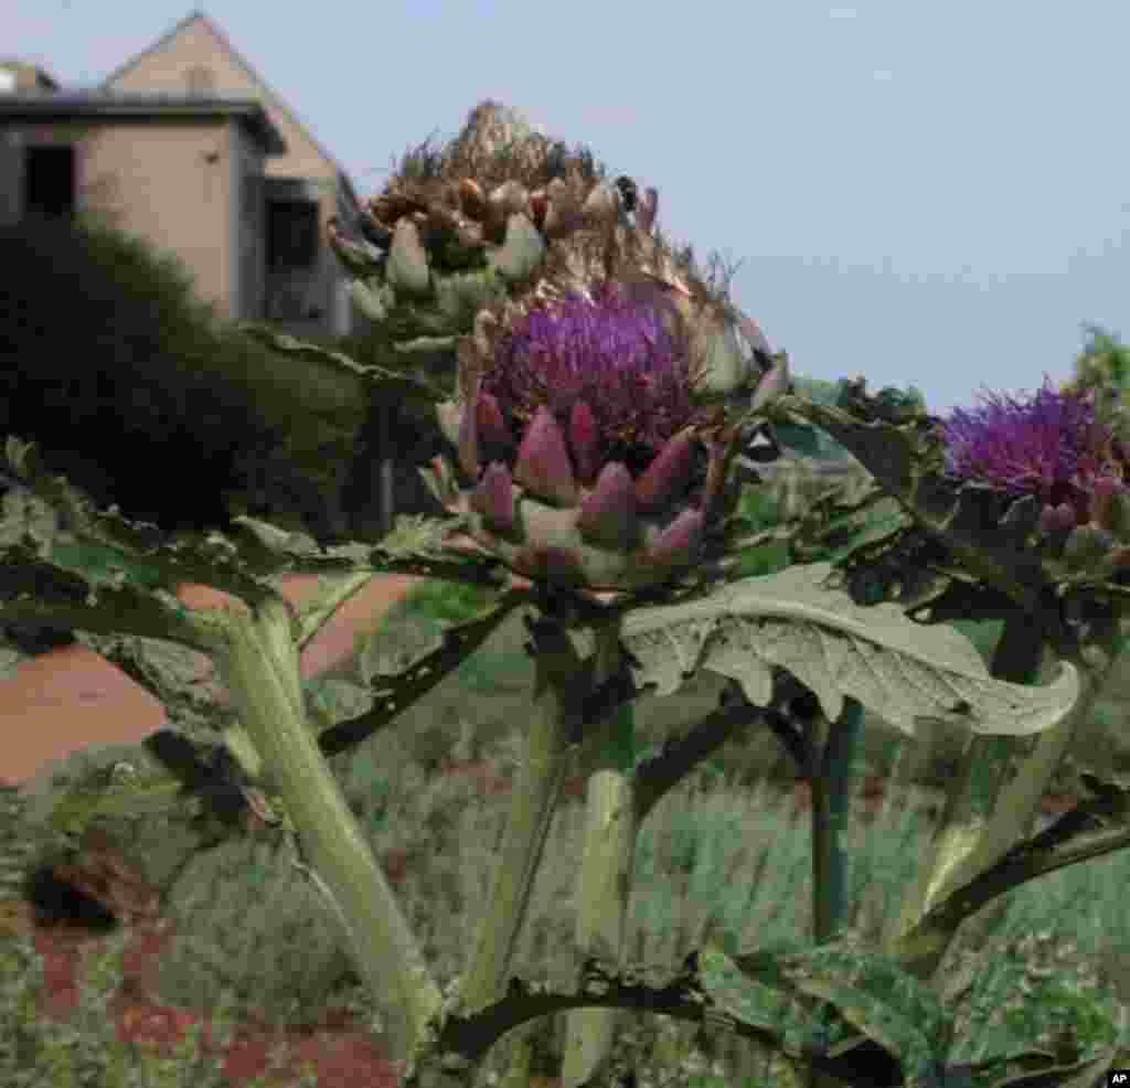
[{"label": "purple tuft of the central artichoke flower", "polygon": [[574,407],[585,404],[596,443],[588,462],[623,461],[635,475],[701,414],[671,315],[615,287],[531,310],[499,338],[483,392],[514,434],[541,406],[568,433]]}]

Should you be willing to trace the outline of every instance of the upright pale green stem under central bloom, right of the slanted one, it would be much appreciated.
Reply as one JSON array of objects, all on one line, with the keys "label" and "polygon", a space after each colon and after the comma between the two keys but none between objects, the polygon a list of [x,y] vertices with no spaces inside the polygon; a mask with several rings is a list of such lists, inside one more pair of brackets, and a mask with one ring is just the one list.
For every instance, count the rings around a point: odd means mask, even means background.
[{"label": "upright pale green stem under central bloom, right of the slanted one", "polygon": [[[619,621],[597,630],[593,686],[620,667]],[[601,956],[619,961],[627,929],[635,858],[635,803],[632,790],[632,704],[621,706],[589,777],[581,872],[577,877],[575,945],[579,959]],[[611,1053],[620,1013],[616,1009],[577,1009],[566,1016],[563,1088],[589,1081]]]}]

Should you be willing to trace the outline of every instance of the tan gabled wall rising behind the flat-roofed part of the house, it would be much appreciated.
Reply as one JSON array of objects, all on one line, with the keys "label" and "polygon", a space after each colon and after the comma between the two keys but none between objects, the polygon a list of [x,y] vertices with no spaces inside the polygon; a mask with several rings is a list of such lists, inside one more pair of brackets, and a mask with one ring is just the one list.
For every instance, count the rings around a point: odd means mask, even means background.
[{"label": "tan gabled wall rising behind the flat-roofed part of the house", "polygon": [[[337,167],[305,133],[289,112],[228,52],[226,44],[212,34],[206,20],[195,19],[181,28],[158,47],[140,55],[125,71],[108,84],[115,92],[220,95],[257,99],[271,123],[279,130],[287,146],[284,155],[266,159],[268,179],[293,180],[304,183],[316,193],[319,201],[319,255],[315,268],[306,272],[303,282],[289,277],[286,293],[301,296],[306,306],[320,313],[316,319],[295,316],[280,321],[296,336],[310,332],[346,332],[351,315],[341,306],[345,277],[337,259],[325,242],[329,219],[339,215],[340,183]],[[267,285],[268,295],[271,285]],[[275,307],[276,314],[278,305]],[[268,316],[262,313],[257,316]],[[271,315],[277,319],[275,315]],[[341,328],[342,317],[347,322]]]}]

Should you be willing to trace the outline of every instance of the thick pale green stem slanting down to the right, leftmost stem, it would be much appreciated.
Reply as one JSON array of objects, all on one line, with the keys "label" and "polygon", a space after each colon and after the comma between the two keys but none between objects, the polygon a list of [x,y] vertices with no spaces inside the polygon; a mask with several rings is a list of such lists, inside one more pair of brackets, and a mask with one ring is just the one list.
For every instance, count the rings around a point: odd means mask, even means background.
[{"label": "thick pale green stem slanting down to the right, leftmost stem", "polygon": [[332,897],[354,961],[390,1013],[390,1045],[406,1057],[441,994],[392,889],[330,773],[303,713],[298,653],[281,601],[254,613],[215,609],[217,669],[255,750],[271,769],[311,870]]}]

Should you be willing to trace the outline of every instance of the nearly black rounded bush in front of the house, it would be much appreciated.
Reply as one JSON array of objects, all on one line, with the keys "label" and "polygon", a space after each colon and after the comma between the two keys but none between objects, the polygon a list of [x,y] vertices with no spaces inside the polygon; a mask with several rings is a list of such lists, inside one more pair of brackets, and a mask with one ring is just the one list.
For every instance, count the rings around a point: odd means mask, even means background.
[{"label": "nearly black rounded bush in front of the house", "polygon": [[280,442],[238,381],[270,365],[146,242],[93,221],[0,228],[0,437],[35,442],[98,506],[224,526],[225,493]]}]

